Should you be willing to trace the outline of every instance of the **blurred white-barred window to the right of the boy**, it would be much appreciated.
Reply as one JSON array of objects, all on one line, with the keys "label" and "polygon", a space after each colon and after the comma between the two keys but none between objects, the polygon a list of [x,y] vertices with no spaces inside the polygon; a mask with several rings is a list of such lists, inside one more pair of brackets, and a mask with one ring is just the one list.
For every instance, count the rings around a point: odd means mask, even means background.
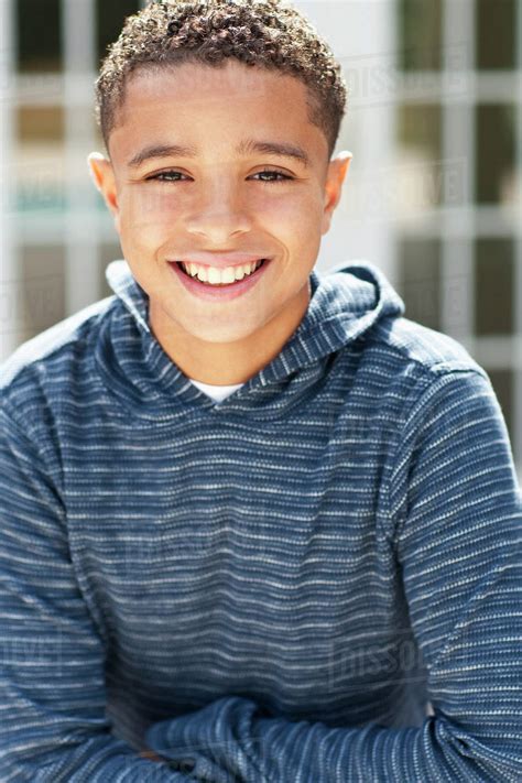
[{"label": "blurred white-barred window to the right of the boy", "polygon": [[[455,161],[458,191],[453,200],[448,187],[434,192],[414,221],[396,221],[399,292],[406,316],[454,334],[489,372],[522,476],[522,3],[400,0],[396,13],[401,162],[417,161],[427,177]],[[452,93],[458,42],[472,78]],[[426,70],[429,104],[414,90]]]}]

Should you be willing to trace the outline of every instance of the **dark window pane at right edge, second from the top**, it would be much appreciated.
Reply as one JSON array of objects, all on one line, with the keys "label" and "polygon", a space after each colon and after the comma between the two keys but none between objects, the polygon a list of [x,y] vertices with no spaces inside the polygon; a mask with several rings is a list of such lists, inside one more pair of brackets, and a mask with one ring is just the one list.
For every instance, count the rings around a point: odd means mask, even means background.
[{"label": "dark window pane at right edge, second from the top", "polygon": [[476,112],[477,202],[510,202],[515,176],[514,106],[477,106]]}]

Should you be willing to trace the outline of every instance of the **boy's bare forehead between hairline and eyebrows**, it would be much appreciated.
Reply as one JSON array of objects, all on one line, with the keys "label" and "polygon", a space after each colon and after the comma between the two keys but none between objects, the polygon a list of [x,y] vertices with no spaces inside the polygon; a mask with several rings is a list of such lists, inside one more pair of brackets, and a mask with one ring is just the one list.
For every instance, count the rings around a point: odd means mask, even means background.
[{"label": "boy's bare forehead between hairline and eyebrows", "polygon": [[327,141],[309,122],[309,93],[297,78],[237,61],[137,70],[111,133],[111,155],[130,160],[146,143],[191,144],[229,154],[243,138],[273,138],[306,148],[323,162]]}]

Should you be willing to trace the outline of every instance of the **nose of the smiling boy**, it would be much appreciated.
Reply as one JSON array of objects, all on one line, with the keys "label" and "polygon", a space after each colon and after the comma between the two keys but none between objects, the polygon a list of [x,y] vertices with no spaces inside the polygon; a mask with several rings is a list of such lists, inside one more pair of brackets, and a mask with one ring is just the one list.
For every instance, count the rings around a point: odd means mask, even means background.
[{"label": "nose of the smiling boy", "polygon": [[226,246],[229,237],[250,231],[251,218],[237,183],[222,175],[207,182],[185,219],[185,228],[219,247]]}]

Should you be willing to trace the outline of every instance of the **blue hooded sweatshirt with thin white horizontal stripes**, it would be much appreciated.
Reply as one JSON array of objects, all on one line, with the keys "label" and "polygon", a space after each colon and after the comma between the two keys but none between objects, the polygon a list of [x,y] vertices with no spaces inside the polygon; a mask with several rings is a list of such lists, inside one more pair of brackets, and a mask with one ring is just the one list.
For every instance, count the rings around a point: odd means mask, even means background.
[{"label": "blue hooded sweatshirt with thin white horizontal stripes", "polygon": [[522,492],[486,371],[356,261],[216,403],[107,278],[0,368],[2,783],[520,783]]}]

